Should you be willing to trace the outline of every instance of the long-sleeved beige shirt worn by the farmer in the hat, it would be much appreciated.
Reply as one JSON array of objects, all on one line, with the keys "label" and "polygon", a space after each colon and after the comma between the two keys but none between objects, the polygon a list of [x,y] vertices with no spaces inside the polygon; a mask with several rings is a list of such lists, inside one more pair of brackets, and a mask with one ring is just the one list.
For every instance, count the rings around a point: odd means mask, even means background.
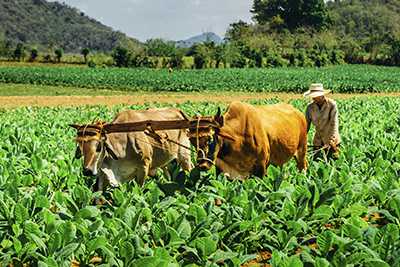
[{"label": "long-sleeved beige shirt worn by the farmer in the hat", "polygon": [[323,146],[329,144],[332,139],[335,144],[340,144],[339,112],[336,102],[325,97],[326,101],[321,107],[313,102],[307,106],[307,129],[310,124],[315,125],[314,145]]}]

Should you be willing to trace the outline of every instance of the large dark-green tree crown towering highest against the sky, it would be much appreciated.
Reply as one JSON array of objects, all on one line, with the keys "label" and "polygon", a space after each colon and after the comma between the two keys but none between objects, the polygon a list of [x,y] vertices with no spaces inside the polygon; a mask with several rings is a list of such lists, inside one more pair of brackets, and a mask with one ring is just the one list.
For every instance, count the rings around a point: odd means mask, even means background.
[{"label": "large dark-green tree crown towering highest against the sky", "polygon": [[324,0],[254,0],[251,12],[260,24],[283,23],[289,30],[299,27],[321,30],[330,23]]}]

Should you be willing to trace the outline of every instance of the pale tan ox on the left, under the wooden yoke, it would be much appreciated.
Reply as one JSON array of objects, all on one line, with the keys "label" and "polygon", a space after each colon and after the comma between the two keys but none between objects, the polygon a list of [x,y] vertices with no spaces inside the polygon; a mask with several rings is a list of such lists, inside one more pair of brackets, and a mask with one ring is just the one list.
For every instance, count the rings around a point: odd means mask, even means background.
[{"label": "pale tan ox on the left, under the wooden yoke", "polygon": [[[119,113],[112,123],[138,122],[145,120],[186,119],[178,109],[127,110]],[[106,183],[118,186],[121,182],[136,179],[143,185],[148,175],[154,175],[156,168],[164,167],[173,159],[184,170],[192,169],[190,146],[186,130],[157,131],[173,142],[155,140],[141,132],[101,133],[99,128],[85,125],[71,125],[78,130],[76,157],[83,155],[83,173],[97,176],[94,190],[102,190]]]}]

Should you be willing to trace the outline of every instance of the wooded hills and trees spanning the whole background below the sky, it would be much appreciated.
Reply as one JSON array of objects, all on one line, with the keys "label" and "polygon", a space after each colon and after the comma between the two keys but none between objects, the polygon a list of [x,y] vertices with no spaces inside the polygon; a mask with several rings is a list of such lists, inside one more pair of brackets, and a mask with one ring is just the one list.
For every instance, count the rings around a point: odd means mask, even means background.
[{"label": "wooded hills and trees spanning the whole background below the sky", "polygon": [[[15,60],[34,60],[32,44],[40,43],[80,52],[86,63],[89,50],[106,51],[112,57],[107,64],[121,67],[400,65],[400,0],[254,0],[252,23],[229,25],[223,43],[190,47],[163,39],[127,41],[64,4],[0,3],[0,54]],[[54,54],[60,60],[62,52]]]}]

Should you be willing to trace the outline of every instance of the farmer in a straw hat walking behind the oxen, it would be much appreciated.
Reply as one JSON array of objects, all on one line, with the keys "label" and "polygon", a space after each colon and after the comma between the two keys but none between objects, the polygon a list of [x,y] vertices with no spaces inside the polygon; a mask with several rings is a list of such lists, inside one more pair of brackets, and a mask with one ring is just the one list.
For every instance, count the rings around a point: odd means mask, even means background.
[{"label": "farmer in a straw hat walking behind the oxen", "polygon": [[330,90],[324,90],[320,83],[313,83],[303,95],[312,98],[307,106],[306,120],[307,133],[311,123],[315,126],[313,140],[314,159],[321,157],[325,151],[327,158],[338,159],[340,135],[339,135],[339,112],[336,102],[325,95]]}]

